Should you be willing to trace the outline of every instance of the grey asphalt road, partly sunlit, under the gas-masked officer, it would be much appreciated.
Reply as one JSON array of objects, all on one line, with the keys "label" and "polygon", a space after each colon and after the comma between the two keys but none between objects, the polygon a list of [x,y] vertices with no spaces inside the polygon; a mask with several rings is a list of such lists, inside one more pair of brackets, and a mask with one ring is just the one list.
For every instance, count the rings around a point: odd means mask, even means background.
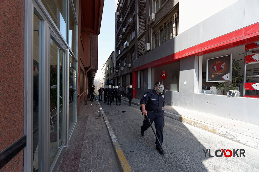
[{"label": "grey asphalt road, partly sunlit, under the gas-masked officer", "polygon": [[[116,106],[116,103],[110,106],[104,101],[100,104],[134,172],[259,171],[259,150],[168,117],[164,117],[165,154],[161,155],[156,150],[155,135],[151,127],[144,137],[140,134],[144,119],[140,107],[133,104],[129,106],[125,101],[121,101],[121,106]],[[209,157],[208,153],[205,157],[203,149],[210,149],[214,157]],[[244,149],[245,157],[216,157],[215,151],[218,149]]]}]

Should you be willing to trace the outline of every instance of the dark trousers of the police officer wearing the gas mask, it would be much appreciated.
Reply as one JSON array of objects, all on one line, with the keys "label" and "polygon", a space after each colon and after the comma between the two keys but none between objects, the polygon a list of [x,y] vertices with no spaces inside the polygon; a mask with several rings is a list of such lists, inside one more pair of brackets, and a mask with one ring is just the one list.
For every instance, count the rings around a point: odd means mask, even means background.
[{"label": "dark trousers of the police officer wearing the gas mask", "polygon": [[[150,119],[151,124],[153,121],[155,122],[155,128],[156,128],[156,135],[160,141],[160,143],[163,143],[163,128],[164,128],[164,111],[160,112],[152,112],[147,110],[147,116]],[[144,132],[150,127],[150,124],[148,120],[143,121],[143,125],[141,126],[141,131]],[[155,144],[160,147],[157,139],[155,141]]]}]

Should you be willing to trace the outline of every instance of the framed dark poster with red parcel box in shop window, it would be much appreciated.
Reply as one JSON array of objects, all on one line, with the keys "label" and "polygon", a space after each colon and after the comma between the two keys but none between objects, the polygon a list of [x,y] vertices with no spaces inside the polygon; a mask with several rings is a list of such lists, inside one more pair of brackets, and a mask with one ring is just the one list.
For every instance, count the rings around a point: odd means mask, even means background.
[{"label": "framed dark poster with red parcel box in shop window", "polygon": [[223,82],[232,80],[232,54],[207,59],[207,82]]}]

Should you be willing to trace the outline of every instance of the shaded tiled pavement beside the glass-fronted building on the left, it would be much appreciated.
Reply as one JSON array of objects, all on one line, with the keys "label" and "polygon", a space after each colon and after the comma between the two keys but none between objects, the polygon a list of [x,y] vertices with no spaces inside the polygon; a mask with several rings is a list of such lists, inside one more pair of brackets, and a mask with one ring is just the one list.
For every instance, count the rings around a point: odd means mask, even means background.
[{"label": "shaded tiled pavement beside the glass-fronted building on the left", "polygon": [[77,119],[69,146],[57,171],[119,171],[99,105],[88,101]]}]

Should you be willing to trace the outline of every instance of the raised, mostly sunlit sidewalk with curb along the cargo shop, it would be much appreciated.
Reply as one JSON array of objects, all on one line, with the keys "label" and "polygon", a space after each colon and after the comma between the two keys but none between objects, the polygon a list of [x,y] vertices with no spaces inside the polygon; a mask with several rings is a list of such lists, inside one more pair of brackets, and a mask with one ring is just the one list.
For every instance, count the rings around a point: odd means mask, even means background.
[{"label": "raised, mostly sunlit sidewalk with curb along the cargo shop", "polygon": [[[121,99],[128,102],[128,98]],[[132,99],[132,104],[140,106],[140,100]],[[220,135],[229,140],[259,150],[259,126],[234,119],[223,118],[212,114],[188,110],[176,106],[163,107],[164,116],[184,122]]]}]

